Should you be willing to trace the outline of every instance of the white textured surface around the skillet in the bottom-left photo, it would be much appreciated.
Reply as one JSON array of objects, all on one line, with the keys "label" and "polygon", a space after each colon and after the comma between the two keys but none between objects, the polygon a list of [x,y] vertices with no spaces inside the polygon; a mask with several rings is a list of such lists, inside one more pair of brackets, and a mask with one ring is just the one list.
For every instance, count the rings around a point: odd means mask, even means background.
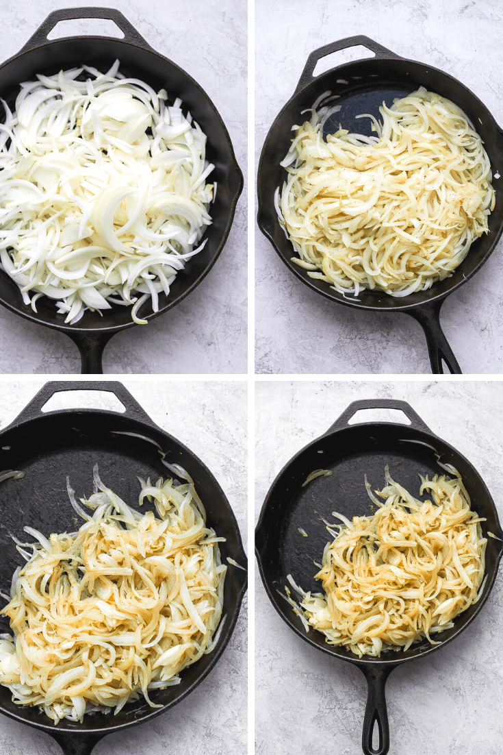
[{"label": "white textured surface around the skillet in the bottom-left photo", "polygon": [[[186,444],[216,476],[238,519],[246,548],[247,385],[239,381],[123,381],[163,430]],[[0,427],[10,424],[41,388],[34,378],[0,381]],[[110,393],[58,393],[48,408],[120,411]],[[223,655],[209,676],[179,704],[152,722],[108,735],[96,755],[207,753],[241,755],[247,747],[247,598]],[[0,755],[60,755],[44,732],[0,715]]]}]

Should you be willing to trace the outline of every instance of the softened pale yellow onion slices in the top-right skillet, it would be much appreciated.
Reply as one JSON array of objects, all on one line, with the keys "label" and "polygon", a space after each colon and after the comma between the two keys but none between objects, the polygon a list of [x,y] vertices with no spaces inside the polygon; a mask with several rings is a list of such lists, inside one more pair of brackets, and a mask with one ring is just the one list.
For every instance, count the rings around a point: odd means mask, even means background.
[{"label": "softened pale yellow onion slices in the top-right skillet", "polygon": [[488,232],[495,207],[482,140],[459,107],[421,87],[370,118],[376,137],[339,128],[323,138],[340,106],[330,91],[281,165],[278,217],[308,276],[342,294],[378,288],[406,296],[443,280]]}]

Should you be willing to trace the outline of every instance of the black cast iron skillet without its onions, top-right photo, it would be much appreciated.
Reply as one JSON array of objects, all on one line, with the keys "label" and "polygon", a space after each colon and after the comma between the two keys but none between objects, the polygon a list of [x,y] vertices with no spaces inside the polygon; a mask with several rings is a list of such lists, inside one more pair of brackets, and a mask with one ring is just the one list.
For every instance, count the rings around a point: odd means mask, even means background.
[{"label": "black cast iron skillet without its onions, top-right photo", "polygon": [[[376,57],[345,63],[313,78],[312,73],[318,60],[354,45],[363,45],[375,53]],[[281,168],[280,162],[290,147],[293,135],[291,128],[298,124],[299,120],[302,121],[301,111],[311,107],[322,92],[331,90],[332,94],[339,94],[340,99],[336,103],[342,106],[325,125],[325,136],[336,131],[339,122],[342,128],[369,136],[370,120],[354,120],[354,116],[370,112],[379,119],[379,106],[383,101],[391,106],[395,97],[404,97],[419,86],[447,97],[465,111],[483,139],[492,165],[493,177],[495,174],[503,175],[503,132],[486,106],[467,87],[432,66],[406,60],[394,54],[366,36],[348,37],[311,53],[293,97],[288,100],[268,132],[259,162],[257,220],[260,230],[271,241],[287,267],[306,285],[338,304],[345,304],[346,307],[406,313],[412,316],[425,331],[431,370],[441,374],[443,360],[451,372],[459,373],[459,364],[440,328],[440,307],[448,294],[477,273],[501,235],[503,192],[498,190],[498,179],[493,178],[496,205],[489,216],[489,233],[474,242],[467,257],[450,278],[434,283],[427,291],[419,291],[403,298],[391,297],[382,291],[363,291],[355,300],[351,294],[344,297],[333,291],[328,283],[310,278],[306,270],[291,261],[293,247],[278,222],[274,205],[276,187],[283,186],[287,176],[287,171]]]}]

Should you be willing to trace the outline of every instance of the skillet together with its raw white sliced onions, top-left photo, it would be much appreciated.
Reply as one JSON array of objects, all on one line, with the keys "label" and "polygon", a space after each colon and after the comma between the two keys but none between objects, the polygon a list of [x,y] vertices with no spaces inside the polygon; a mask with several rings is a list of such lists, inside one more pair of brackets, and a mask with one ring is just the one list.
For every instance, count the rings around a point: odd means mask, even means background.
[{"label": "skillet together with its raw white sliced onions, top-left photo", "polygon": [[[48,40],[62,20],[123,39]],[[204,279],[243,186],[192,77],[113,8],[51,13],[0,66],[0,304],[69,335],[101,373],[113,334],[146,327]],[[148,331],[148,328],[147,328]]]}]

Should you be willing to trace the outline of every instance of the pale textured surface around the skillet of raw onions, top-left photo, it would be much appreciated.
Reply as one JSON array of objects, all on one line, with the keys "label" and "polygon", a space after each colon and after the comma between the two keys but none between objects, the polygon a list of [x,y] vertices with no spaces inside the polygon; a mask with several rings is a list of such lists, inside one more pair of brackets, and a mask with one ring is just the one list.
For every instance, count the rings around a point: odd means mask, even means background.
[{"label": "pale textured surface around the skillet of raw onions, top-left photo", "polygon": [[[96,6],[94,0],[2,2],[2,61],[27,42],[56,8]],[[177,63],[207,91],[231,136],[238,163],[247,165],[247,2],[219,0],[106,0],[152,47]],[[66,22],[64,34],[109,34],[112,22]],[[108,26],[106,26],[108,24]],[[115,335],[106,347],[109,374],[247,371],[246,196],[238,201],[228,241],[213,270],[185,300],[149,325]],[[80,372],[77,348],[63,334],[0,311],[0,372]]]}]

